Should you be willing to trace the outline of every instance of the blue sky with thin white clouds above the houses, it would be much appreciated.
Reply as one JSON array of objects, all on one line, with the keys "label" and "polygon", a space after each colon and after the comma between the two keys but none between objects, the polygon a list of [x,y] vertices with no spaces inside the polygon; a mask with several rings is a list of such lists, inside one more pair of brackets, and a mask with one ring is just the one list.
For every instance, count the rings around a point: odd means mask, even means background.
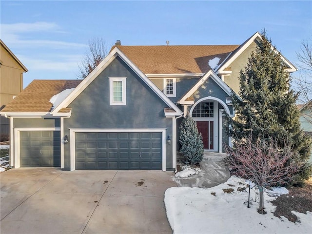
[{"label": "blue sky with thin white clouds above the houses", "polygon": [[[5,1],[0,37],[33,79],[76,79],[89,39],[122,45],[241,44],[264,28],[295,65],[312,1]],[[298,72],[297,72],[298,73]],[[295,74],[294,74],[295,75]]]}]

